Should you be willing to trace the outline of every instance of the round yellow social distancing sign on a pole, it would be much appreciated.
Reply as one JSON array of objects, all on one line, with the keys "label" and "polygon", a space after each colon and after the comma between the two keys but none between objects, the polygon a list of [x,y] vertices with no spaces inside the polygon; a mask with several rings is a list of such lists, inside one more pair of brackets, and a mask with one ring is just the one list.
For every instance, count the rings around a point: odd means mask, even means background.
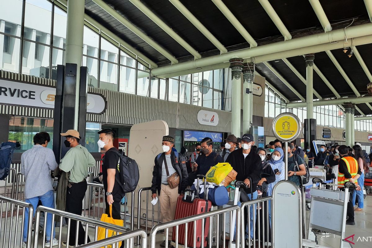
[{"label": "round yellow social distancing sign on a pole", "polygon": [[292,113],[281,113],[273,121],[273,132],[281,141],[292,141],[298,137],[302,129],[302,123]]}]

